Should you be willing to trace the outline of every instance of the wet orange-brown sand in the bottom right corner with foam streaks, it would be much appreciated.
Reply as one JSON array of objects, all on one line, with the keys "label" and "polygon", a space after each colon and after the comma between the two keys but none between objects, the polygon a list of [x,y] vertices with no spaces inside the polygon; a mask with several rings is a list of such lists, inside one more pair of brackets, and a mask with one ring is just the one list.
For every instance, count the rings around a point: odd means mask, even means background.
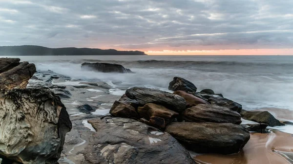
[{"label": "wet orange-brown sand in the bottom right corner with foam streaks", "polygon": [[237,154],[197,155],[199,164],[293,164],[293,136],[281,131],[251,133],[251,139]]}]

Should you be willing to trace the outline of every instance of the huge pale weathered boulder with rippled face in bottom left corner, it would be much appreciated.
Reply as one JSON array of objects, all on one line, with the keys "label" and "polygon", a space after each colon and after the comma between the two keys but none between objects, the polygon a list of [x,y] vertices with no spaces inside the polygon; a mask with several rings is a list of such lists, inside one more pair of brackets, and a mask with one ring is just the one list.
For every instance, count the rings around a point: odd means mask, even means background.
[{"label": "huge pale weathered boulder with rippled face in bottom left corner", "polygon": [[72,128],[49,90],[0,91],[0,156],[21,164],[56,164]]}]

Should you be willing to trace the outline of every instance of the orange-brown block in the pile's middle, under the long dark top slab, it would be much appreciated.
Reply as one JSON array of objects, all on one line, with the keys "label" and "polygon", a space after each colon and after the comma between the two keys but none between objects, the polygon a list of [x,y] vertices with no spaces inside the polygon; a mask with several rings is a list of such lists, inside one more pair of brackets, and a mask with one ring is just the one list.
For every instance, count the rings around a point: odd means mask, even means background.
[{"label": "orange-brown block in the pile's middle, under the long dark top slab", "polygon": [[138,114],[140,115],[140,117],[143,117],[146,120],[149,120],[152,116],[161,117],[165,120],[166,124],[168,124],[178,116],[177,112],[169,110],[162,105],[157,105],[153,103],[148,103],[144,107],[139,107]]}]

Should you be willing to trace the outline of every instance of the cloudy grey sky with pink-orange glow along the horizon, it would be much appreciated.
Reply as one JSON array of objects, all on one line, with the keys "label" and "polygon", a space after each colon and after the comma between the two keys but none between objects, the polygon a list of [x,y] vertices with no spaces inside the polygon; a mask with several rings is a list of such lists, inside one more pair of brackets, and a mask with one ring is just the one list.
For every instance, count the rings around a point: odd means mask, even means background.
[{"label": "cloudy grey sky with pink-orange glow along the horizon", "polygon": [[0,0],[0,45],[293,55],[293,0]]}]

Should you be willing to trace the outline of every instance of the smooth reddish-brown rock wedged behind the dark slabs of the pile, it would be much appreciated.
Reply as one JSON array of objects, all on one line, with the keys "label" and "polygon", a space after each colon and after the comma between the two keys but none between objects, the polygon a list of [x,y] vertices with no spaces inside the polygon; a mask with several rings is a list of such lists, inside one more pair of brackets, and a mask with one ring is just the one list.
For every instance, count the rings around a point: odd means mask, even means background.
[{"label": "smooth reddish-brown rock wedged behind the dark slabs of the pile", "polygon": [[186,107],[190,108],[193,106],[196,106],[198,104],[209,104],[209,102],[207,102],[206,100],[203,100],[201,98],[198,98],[192,94],[189,94],[185,91],[175,91],[173,94],[177,94],[181,97],[183,97],[186,101]]}]

